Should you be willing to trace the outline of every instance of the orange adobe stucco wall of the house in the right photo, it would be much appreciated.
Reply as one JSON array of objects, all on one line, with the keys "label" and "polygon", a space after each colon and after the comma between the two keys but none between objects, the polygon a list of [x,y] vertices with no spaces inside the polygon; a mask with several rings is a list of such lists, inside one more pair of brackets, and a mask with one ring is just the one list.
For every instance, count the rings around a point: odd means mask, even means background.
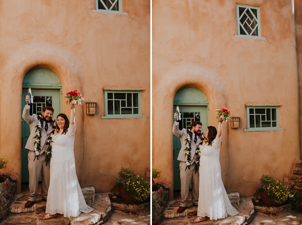
[{"label": "orange adobe stucco wall of the house in the right photo", "polygon": [[[236,4],[260,7],[261,36],[237,35]],[[291,0],[152,1],[152,167],[173,187],[173,99],[183,87],[203,91],[209,100],[209,124],[215,109],[229,107],[240,128],[223,124],[220,153],[227,191],[253,195],[258,180],[273,171],[291,175],[300,158],[298,79]],[[280,106],[284,130],[244,132],[246,105]],[[173,193],[171,193],[171,198]]]}]

